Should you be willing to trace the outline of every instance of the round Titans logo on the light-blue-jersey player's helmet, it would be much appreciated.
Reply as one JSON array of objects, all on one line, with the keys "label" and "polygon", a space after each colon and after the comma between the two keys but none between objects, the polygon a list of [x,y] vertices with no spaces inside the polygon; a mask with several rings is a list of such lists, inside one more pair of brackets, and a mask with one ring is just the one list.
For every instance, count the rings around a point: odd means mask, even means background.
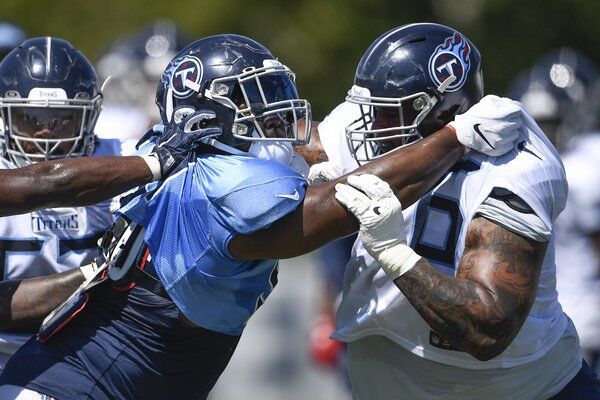
[{"label": "round Titans logo on the light-blue-jersey player's helmet", "polygon": [[199,90],[202,74],[202,62],[196,57],[185,56],[171,62],[163,74],[163,82],[168,81],[173,95],[183,99]]}]

